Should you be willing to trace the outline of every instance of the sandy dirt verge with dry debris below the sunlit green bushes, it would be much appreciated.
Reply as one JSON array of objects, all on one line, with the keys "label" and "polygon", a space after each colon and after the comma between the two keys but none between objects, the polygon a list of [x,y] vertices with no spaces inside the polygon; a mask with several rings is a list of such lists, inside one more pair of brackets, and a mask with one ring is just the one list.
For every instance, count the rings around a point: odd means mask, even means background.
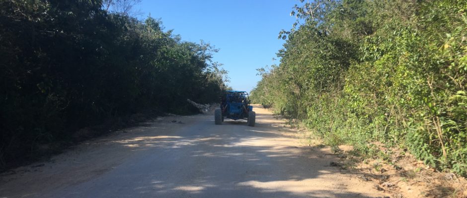
[{"label": "sandy dirt verge with dry debris below the sunlit green bushes", "polygon": [[344,149],[337,152],[341,156],[337,165],[362,181],[374,183],[375,189],[391,198],[467,198],[466,178],[439,172],[405,150],[374,145],[384,156],[362,159],[352,149]]}]

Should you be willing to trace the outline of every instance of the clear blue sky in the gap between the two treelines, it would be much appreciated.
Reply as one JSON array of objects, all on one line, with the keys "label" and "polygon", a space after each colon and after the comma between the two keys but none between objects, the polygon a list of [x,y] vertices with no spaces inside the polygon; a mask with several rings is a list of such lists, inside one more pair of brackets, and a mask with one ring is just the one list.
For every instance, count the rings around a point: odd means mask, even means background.
[{"label": "clear blue sky in the gap between the two treelines", "polygon": [[[143,0],[142,18],[160,18],[184,41],[204,40],[220,51],[214,61],[229,71],[230,86],[248,91],[260,80],[256,68],[273,64],[283,40],[279,31],[295,22],[298,0]],[[274,63],[278,63],[275,60]]]}]

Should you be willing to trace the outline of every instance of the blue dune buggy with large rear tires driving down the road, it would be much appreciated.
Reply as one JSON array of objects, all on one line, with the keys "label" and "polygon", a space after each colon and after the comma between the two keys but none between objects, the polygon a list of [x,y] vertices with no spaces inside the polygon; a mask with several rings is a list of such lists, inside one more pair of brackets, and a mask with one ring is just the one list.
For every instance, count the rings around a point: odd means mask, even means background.
[{"label": "blue dune buggy with large rear tires driving down the road", "polygon": [[248,93],[243,91],[227,91],[221,99],[221,108],[214,111],[214,122],[222,124],[224,118],[233,120],[246,119],[247,125],[253,127],[256,113],[250,105]]}]

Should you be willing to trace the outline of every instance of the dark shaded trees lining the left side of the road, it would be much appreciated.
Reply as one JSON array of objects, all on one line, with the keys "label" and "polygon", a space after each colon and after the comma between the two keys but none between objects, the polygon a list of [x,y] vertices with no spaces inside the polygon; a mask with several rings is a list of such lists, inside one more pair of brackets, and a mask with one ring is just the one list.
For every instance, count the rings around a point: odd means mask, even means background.
[{"label": "dark shaded trees lining the left side of the road", "polygon": [[0,1],[0,167],[112,118],[217,101],[217,49],[102,3]]}]

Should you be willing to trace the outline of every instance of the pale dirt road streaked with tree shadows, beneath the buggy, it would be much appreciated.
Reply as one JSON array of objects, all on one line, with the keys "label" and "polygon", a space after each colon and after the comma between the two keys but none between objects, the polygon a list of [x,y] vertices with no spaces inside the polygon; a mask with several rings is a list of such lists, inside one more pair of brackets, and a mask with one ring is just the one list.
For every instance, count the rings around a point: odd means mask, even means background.
[{"label": "pale dirt road streaked with tree shadows, beneath the buggy", "polygon": [[[302,145],[266,109],[214,125],[211,114],[167,116],[85,142],[0,176],[0,198],[376,198],[329,166],[329,148]],[[174,122],[175,121],[175,122]]]}]

